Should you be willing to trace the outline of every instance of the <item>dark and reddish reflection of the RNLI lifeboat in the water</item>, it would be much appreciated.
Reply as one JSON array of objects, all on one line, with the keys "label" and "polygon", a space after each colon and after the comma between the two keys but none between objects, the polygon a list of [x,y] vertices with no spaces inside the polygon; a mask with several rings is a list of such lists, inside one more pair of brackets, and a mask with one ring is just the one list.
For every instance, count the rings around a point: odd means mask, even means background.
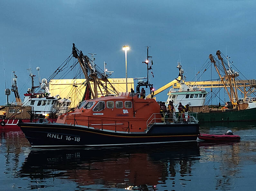
[{"label": "dark and reddish reflection of the RNLI lifeboat in the water", "polygon": [[177,171],[191,174],[199,160],[197,143],[147,145],[104,149],[32,150],[18,172],[20,178],[70,179],[78,187],[104,185],[126,189],[154,189]]}]

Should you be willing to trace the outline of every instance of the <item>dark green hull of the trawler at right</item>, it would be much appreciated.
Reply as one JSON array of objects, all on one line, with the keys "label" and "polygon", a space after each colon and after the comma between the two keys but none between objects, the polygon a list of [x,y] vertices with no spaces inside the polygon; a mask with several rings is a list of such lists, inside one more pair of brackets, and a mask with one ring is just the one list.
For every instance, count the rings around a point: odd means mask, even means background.
[{"label": "dark green hull of the trawler at right", "polygon": [[199,123],[205,122],[227,122],[227,121],[255,121],[256,108],[239,111],[198,113]]}]

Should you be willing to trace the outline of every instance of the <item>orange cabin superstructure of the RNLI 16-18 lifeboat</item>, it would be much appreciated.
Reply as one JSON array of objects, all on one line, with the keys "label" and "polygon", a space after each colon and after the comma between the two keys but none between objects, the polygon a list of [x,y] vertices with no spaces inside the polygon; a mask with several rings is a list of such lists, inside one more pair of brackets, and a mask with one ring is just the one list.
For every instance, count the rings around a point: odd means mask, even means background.
[{"label": "orange cabin superstructure of the RNLI 16-18 lifeboat", "polygon": [[[160,111],[159,104],[154,99],[140,99],[137,94],[132,97],[129,92],[119,95],[83,101],[74,112],[60,116],[57,123],[74,124],[76,121],[75,124],[78,125],[89,124],[90,127],[109,130],[115,130],[116,125],[113,124],[119,124],[116,130],[122,131],[129,126],[130,131],[144,131],[150,116]],[[87,104],[93,105],[87,109]],[[99,105],[101,110],[97,111]],[[104,124],[104,127],[100,124]]]}]

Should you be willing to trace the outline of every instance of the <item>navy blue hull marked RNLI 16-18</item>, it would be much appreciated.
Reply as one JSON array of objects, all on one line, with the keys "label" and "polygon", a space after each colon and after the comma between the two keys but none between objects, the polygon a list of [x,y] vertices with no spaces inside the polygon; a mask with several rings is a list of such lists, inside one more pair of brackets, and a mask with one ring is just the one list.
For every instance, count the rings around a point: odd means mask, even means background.
[{"label": "navy blue hull marked RNLI 16-18", "polygon": [[147,133],[115,132],[64,124],[19,123],[32,146],[97,146],[196,141],[199,124],[157,124]]}]

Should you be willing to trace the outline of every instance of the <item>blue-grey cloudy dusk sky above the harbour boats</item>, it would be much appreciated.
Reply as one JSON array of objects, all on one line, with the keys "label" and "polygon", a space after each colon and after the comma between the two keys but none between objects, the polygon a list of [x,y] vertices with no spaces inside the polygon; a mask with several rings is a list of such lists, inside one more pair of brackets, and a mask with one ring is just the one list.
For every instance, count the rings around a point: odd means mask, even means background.
[{"label": "blue-grey cloudy dusk sky above the harbour boats", "polygon": [[[247,79],[255,79],[255,0],[1,0],[0,8],[1,105],[12,71],[23,97],[31,87],[26,69],[37,75],[39,66],[40,76],[49,77],[71,54],[72,43],[84,54],[96,53],[101,68],[107,62],[112,78],[125,78],[124,45],[130,46],[128,78],[147,76],[142,61],[150,46],[155,89],[177,77],[179,58],[189,81],[217,50],[227,52]],[[209,72],[202,79],[210,79]],[[166,101],[167,91],[157,100]]]}]

